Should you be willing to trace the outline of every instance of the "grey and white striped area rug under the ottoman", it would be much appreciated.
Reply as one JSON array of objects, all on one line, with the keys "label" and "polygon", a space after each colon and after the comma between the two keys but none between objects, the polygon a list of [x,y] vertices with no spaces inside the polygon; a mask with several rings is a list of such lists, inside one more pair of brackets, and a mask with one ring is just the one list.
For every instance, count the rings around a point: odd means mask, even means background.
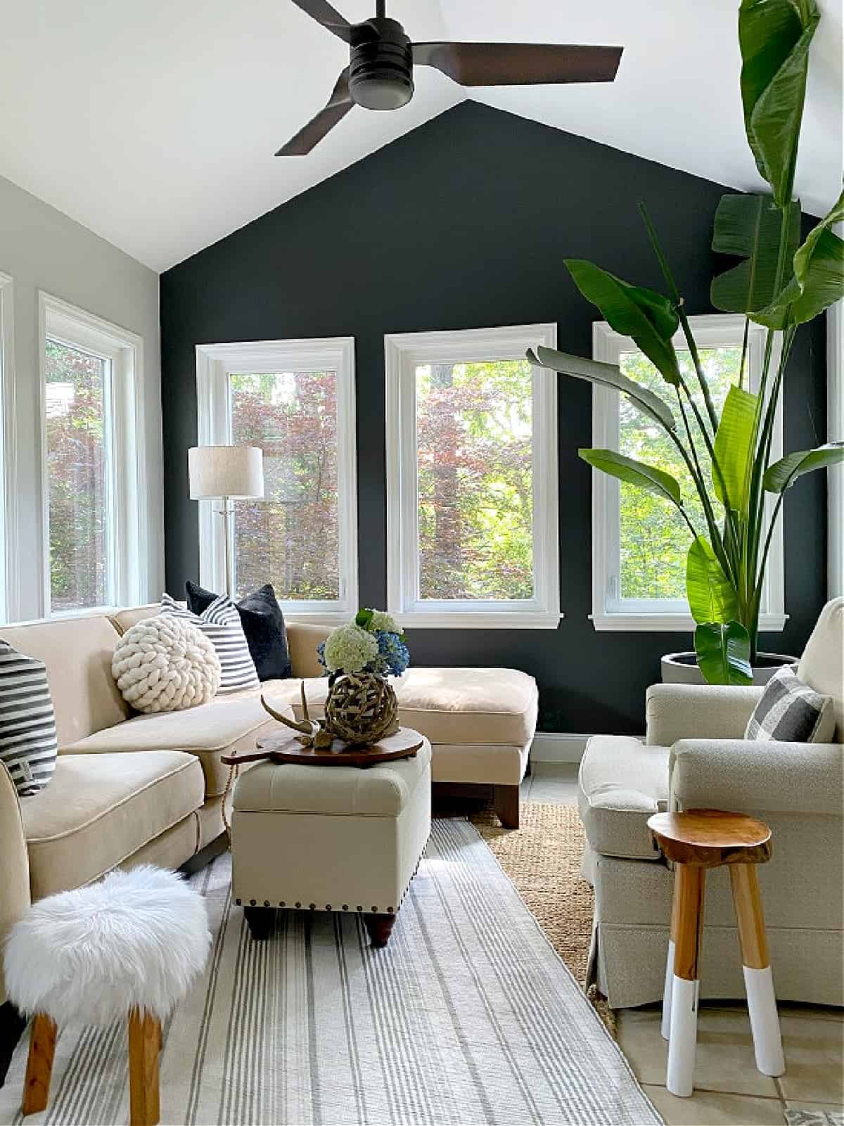
[{"label": "grey and white striped area rug under the ottoman", "polygon": [[[463,820],[434,821],[393,938],[353,915],[279,912],[250,938],[230,858],[194,877],[215,942],[164,1029],[164,1124],[649,1126],[661,1118],[616,1043]],[[0,1090],[23,1121],[26,1044]],[[122,1027],[66,1028],[48,1109],[27,1123],[128,1120]]]}]

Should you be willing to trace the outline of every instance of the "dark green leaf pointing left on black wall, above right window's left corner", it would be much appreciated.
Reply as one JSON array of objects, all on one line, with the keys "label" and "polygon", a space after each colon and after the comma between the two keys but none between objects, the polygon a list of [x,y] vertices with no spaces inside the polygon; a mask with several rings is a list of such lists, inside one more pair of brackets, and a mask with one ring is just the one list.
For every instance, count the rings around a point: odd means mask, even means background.
[{"label": "dark green leaf pointing left on black wall, above right window's left corner", "polygon": [[565,258],[564,262],[577,288],[600,309],[610,328],[632,337],[663,378],[677,384],[680,368],[671,338],[680,320],[667,297],[629,285],[582,258]]}]

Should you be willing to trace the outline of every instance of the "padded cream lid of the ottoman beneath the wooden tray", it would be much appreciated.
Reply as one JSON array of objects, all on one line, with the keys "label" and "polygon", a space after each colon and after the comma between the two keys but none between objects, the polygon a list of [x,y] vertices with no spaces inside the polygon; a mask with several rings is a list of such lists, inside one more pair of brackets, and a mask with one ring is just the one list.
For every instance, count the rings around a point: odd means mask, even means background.
[{"label": "padded cream lid of the ottoman beneath the wooden tray", "polygon": [[234,808],[241,813],[330,813],[397,817],[415,785],[427,777],[431,747],[412,759],[366,770],[259,762],[237,779]]}]

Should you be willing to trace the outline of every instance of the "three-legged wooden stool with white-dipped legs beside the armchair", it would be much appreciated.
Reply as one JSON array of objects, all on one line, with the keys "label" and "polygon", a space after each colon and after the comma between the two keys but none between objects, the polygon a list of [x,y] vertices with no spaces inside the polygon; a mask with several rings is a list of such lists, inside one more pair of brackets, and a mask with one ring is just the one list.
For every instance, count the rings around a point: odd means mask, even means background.
[{"label": "three-legged wooden stool with white-dipped legs beside the armchair", "polygon": [[648,829],[675,865],[663,994],[662,1034],[668,1042],[665,1085],[681,1098],[694,1089],[706,872],[724,865],[729,867],[756,1066],[764,1075],[782,1075],[785,1062],[756,879],[756,865],[771,859],[770,828],[745,813],[689,810],[655,813]]}]

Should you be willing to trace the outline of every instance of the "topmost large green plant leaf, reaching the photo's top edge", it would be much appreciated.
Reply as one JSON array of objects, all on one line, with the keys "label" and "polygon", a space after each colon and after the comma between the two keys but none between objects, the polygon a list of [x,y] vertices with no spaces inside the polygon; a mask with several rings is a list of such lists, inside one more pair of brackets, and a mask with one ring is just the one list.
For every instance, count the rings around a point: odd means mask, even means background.
[{"label": "topmost large green plant leaf, reaching the photo's top edge", "polygon": [[791,203],[815,0],[742,0],[742,101],[747,142],[779,207]]}]

